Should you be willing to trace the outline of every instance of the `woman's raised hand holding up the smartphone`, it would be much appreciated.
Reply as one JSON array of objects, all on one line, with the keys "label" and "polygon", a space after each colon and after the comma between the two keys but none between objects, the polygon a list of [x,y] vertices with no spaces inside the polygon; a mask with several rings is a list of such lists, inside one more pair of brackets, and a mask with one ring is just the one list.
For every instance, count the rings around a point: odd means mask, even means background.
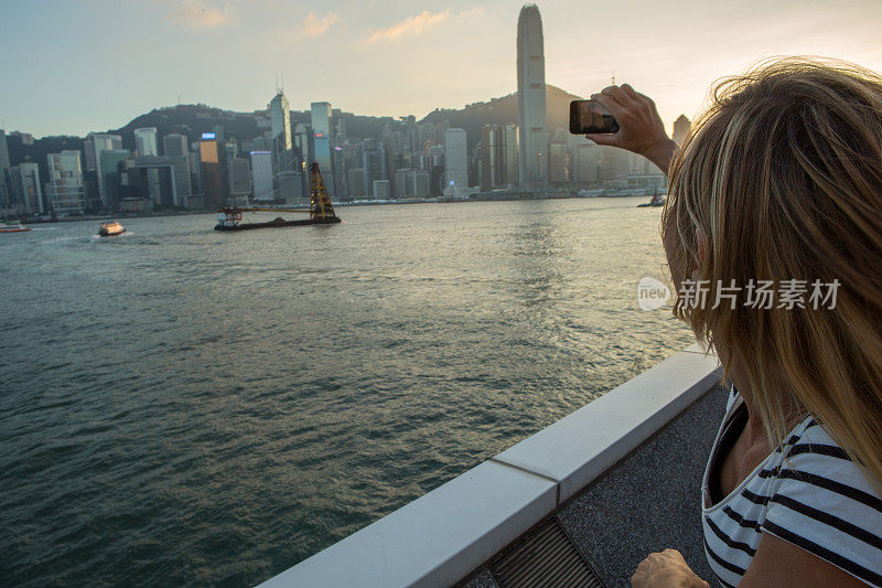
[{"label": "woman's raised hand holding up the smartphone", "polygon": [[641,154],[667,174],[677,143],[668,138],[665,124],[648,96],[622,84],[604,88],[600,94],[592,94],[591,99],[599,101],[615,117],[619,132],[592,133],[585,135],[585,138],[598,145],[619,147]]}]

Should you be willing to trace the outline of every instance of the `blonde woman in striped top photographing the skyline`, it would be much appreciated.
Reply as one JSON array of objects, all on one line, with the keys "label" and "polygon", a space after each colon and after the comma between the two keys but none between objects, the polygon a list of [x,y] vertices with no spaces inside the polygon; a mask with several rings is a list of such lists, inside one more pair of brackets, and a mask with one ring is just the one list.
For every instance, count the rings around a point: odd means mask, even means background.
[{"label": "blonde woman in striped top photographing the skyline", "polygon": [[[669,169],[675,313],[732,383],[702,492],[718,580],[882,586],[882,77],[765,64],[717,87],[681,149],[630,86],[592,98],[621,130],[589,139]],[[707,586],[673,549],[632,582]]]}]

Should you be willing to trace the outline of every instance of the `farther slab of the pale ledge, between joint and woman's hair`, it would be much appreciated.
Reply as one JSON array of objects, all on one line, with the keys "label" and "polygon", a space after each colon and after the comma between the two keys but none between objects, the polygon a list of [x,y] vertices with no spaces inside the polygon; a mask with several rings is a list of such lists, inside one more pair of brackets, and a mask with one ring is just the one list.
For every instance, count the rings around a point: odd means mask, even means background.
[{"label": "farther slab of the pale ledge, between joint and woman's hair", "polygon": [[717,366],[677,353],[493,459],[556,480],[560,504],[711,389]]}]

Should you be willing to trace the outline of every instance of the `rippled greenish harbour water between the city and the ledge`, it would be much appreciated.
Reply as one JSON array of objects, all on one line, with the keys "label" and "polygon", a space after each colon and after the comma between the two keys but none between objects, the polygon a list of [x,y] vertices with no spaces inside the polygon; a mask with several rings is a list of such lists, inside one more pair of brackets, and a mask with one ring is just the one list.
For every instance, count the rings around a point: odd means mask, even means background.
[{"label": "rippled greenish harbour water between the city and the ledge", "polygon": [[643,201],[0,235],[0,585],[254,585],[686,346]]}]

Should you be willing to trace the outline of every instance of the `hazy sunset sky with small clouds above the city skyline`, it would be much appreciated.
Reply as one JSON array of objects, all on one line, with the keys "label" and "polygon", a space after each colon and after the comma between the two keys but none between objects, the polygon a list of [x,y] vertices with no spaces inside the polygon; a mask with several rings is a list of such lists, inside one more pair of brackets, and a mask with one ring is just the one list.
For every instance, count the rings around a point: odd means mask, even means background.
[{"label": "hazy sunset sky with small clouds above the city skyline", "polygon": [[[627,82],[668,128],[714,79],[781,55],[882,72],[882,1],[552,0],[546,83],[587,96]],[[37,137],[119,128],[161,106],[418,118],[516,87],[521,1],[0,0],[0,128]]]}]

